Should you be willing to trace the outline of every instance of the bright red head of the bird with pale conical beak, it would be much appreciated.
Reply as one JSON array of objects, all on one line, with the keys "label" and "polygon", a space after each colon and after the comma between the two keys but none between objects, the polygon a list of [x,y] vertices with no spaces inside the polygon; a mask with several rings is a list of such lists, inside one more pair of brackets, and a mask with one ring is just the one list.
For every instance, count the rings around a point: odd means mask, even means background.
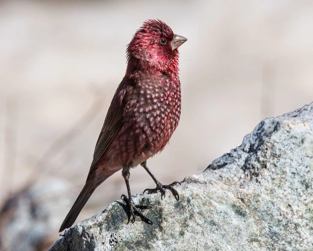
[{"label": "bright red head of the bird with pale conical beak", "polygon": [[177,48],[187,38],[176,35],[160,20],[147,20],[139,28],[127,47],[127,57],[164,71],[169,67],[178,69]]}]

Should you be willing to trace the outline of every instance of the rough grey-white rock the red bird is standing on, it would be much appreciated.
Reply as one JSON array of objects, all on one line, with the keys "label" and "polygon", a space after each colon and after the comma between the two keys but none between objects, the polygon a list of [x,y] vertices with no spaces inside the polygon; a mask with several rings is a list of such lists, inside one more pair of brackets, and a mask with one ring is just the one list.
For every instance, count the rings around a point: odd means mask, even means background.
[{"label": "rough grey-white rock the red bird is standing on", "polygon": [[312,250],[312,130],[313,103],[265,119],[241,146],[186,177],[178,202],[170,192],[163,200],[134,196],[153,206],[145,211],[153,225],[126,224],[126,207],[116,201],[50,251]]}]

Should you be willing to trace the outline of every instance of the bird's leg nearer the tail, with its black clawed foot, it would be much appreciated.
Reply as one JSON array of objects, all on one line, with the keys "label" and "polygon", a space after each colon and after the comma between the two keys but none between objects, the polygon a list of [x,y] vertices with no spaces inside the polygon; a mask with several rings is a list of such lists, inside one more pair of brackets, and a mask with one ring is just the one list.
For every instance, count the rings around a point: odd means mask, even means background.
[{"label": "bird's leg nearer the tail, with its black clawed foot", "polygon": [[[126,188],[127,188],[127,194],[128,197],[125,194],[122,194],[121,199],[124,200],[127,204],[127,206],[129,207],[129,212],[131,214],[131,223],[134,223],[136,220],[136,216],[139,216],[141,218],[142,221],[144,221],[145,223],[148,224],[152,224],[151,220],[149,220],[146,216],[144,216],[141,212],[138,211],[138,209],[149,209],[151,208],[150,206],[145,206],[145,205],[136,205],[133,202],[133,199],[131,198],[131,189],[129,187],[129,167],[124,167],[122,170],[122,176],[125,179],[125,183],[126,183]],[[130,218],[128,220],[128,222],[130,221]]]}]

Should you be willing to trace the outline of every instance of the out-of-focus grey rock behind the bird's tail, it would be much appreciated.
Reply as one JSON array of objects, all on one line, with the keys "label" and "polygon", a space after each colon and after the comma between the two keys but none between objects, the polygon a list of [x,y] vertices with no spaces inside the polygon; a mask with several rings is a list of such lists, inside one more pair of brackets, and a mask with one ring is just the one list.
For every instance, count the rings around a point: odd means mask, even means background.
[{"label": "out-of-focus grey rock behind the bird's tail", "polygon": [[[70,184],[55,177],[32,180],[0,209],[0,250],[47,250],[70,207]],[[62,194],[62,196],[60,196]]]}]

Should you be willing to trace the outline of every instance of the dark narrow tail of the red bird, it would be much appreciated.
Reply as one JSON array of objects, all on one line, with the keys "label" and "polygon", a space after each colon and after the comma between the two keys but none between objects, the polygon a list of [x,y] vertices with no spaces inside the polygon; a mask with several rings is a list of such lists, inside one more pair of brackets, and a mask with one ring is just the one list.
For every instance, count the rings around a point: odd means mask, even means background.
[{"label": "dark narrow tail of the red bird", "polygon": [[79,196],[77,197],[74,205],[72,206],[69,213],[66,215],[59,232],[62,232],[65,228],[69,228],[75,222],[78,214],[85,206],[86,202],[90,198],[91,194],[95,191],[95,186],[93,186],[93,182],[88,182],[85,184],[83,189],[81,190]]}]

